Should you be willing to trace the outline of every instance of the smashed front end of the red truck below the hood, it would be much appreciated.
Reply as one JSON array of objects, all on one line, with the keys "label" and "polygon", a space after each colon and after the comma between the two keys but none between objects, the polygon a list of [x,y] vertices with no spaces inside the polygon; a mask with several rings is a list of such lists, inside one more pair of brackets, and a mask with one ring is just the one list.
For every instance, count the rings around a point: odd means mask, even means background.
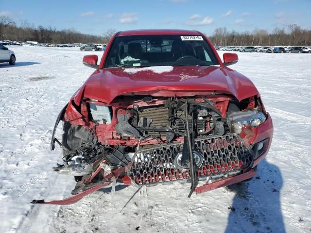
[{"label": "smashed front end of the red truck below the hood", "polygon": [[[272,122],[259,96],[118,96],[109,104],[70,100],[52,135],[63,149],[54,167],[77,182],[71,204],[113,181],[125,185],[191,183],[201,193],[256,175],[253,168],[271,143]],[[64,121],[62,142],[54,137]]]}]

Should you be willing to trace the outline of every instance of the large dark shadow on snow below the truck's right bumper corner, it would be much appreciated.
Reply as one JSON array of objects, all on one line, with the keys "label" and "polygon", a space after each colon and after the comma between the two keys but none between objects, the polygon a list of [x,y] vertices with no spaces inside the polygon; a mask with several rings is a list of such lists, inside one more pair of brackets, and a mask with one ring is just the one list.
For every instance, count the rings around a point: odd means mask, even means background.
[{"label": "large dark shadow on snow below the truck's right bumper corner", "polygon": [[285,232],[280,206],[282,176],[277,166],[265,159],[260,163],[257,176],[251,181],[233,184],[227,189],[235,192],[229,207],[225,233]]}]

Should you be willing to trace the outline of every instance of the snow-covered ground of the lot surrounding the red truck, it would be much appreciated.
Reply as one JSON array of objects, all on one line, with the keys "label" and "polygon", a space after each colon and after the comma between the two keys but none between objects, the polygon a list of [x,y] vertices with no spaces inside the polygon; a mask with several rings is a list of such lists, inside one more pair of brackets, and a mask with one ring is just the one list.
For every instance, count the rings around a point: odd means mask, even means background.
[{"label": "snow-covered ground of the lot surrounding the red truck", "polygon": [[191,199],[189,184],[138,190],[117,183],[115,192],[104,188],[54,206],[30,203],[68,197],[75,185],[52,171],[61,157],[59,147],[49,150],[52,128],[93,72],[82,57],[102,52],[11,49],[16,66],[0,64],[1,233],[311,231],[310,54],[239,53],[232,66],[256,84],[274,121],[272,147],[256,179]]}]

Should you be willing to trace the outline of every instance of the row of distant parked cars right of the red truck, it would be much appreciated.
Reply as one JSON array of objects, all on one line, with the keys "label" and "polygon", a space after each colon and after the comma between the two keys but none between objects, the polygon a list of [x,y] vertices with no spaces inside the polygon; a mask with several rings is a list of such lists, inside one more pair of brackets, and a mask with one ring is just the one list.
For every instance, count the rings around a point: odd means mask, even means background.
[{"label": "row of distant parked cars right of the red truck", "polygon": [[292,47],[292,46],[226,46],[226,47],[215,47],[216,50],[221,51],[239,51],[239,52],[269,52],[269,53],[311,53],[311,47]]}]

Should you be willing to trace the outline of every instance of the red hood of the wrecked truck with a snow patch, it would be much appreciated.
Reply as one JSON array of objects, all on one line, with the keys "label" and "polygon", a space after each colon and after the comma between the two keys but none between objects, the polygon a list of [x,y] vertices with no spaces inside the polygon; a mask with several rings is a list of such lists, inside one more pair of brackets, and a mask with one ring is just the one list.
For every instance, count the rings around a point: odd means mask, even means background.
[{"label": "red hood of the wrecked truck with a snow patch", "polygon": [[[136,72],[135,69],[138,69]],[[226,93],[238,100],[258,95],[254,84],[227,67],[108,68],[96,70],[85,83],[86,98],[110,103],[119,95],[155,95],[158,91]]]}]

